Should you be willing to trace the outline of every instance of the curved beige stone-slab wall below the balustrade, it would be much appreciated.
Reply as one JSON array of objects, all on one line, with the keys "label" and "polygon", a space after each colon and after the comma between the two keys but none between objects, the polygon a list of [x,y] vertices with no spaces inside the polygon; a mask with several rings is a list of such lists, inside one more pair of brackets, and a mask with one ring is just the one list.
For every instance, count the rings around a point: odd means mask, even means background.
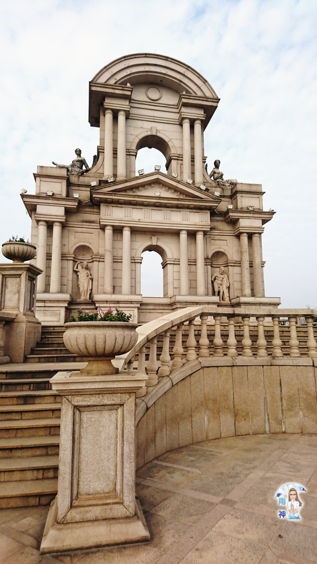
[{"label": "curved beige stone-slab wall below the balustrade", "polygon": [[136,427],[136,468],[203,440],[317,433],[316,359],[259,360],[196,369],[160,395]]}]

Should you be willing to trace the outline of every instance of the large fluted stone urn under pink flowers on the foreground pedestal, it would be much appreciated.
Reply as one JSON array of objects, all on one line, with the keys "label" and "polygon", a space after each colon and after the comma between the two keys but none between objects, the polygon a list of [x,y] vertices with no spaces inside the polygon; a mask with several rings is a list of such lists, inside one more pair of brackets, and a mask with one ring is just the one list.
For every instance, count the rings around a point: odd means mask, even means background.
[{"label": "large fluted stone urn under pink flowers on the foreground pedestal", "polygon": [[123,321],[72,321],[65,323],[63,339],[70,352],[88,360],[84,376],[116,374],[115,355],[130,351],[137,342],[137,323]]}]

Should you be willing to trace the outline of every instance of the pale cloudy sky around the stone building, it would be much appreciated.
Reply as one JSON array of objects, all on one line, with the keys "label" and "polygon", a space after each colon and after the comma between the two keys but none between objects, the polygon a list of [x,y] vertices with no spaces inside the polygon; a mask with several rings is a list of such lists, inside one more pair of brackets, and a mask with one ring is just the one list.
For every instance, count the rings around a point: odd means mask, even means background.
[{"label": "pale cloudy sky around the stone building", "polygon": [[34,193],[37,165],[70,162],[75,147],[92,161],[88,81],[119,56],[157,52],[221,98],[209,168],[220,158],[225,178],[262,183],[277,212],[263,236],[266,296],[317,306],[315,0],[2,0],[1,16],[1,241],[29,236],[19,193]]}]

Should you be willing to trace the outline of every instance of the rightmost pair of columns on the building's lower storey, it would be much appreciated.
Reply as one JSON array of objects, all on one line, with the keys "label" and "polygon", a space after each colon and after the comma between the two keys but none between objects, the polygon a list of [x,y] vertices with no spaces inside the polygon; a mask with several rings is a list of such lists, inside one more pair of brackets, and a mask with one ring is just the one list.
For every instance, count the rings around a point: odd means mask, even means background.
[{"label": "rightmost pair of columns on the building's lower storey", "polygon": [[[240,233],[242,296],[251,296],[248,233]],[[260,233],[252,234],[253,291],[256,297],[263,296]]]}]

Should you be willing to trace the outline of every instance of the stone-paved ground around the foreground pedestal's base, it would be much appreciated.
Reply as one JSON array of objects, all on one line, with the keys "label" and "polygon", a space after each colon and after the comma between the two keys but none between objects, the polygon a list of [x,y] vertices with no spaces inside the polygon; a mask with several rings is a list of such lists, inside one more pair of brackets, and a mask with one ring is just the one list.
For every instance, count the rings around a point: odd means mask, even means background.
[{"label": "stone-paved ground around the foreground pedestal's base", "polygon": [[[1,564],[311,564],[317,562],[317,435],[255,435],[178,448],[137,472],[151,530],[143,545],[39,556],[48,508],[0,511]],[[275,492],[306,487],[301,520]]]}]

